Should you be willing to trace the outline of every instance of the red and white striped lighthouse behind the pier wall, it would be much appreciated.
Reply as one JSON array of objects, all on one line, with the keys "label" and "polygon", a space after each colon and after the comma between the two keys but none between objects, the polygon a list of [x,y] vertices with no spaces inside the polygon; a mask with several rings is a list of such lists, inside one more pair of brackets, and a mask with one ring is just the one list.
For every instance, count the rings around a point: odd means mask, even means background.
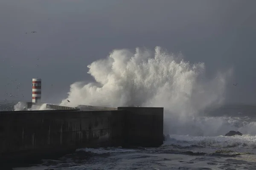
[{"label": "red and white striped lighthouse behind the pier wall", "polygon": [[41,103],[41,79],[32,79],[32,102]]}]

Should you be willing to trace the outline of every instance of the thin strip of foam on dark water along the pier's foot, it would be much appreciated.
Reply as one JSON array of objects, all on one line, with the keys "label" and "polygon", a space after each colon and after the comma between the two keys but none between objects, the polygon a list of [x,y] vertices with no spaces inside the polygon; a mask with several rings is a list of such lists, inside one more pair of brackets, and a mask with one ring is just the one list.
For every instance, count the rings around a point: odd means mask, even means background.
[{"label": "thin strip of foam on dark water along the pier's foot", "polygon": [[123,149],[123,148],[116,148],[116,147],[108,147],[108,148],[81,148],[77,149],[76,151],[84,151],[96,154],[104,154],[104,153],[127,153],[127,152],[136,152],[133,149]]}]

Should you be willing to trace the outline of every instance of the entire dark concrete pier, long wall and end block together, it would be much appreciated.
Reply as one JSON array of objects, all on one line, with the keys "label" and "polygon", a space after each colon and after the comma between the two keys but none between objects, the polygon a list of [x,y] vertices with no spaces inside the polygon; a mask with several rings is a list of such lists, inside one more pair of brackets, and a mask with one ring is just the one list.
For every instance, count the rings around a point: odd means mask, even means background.
[{"label": "entire dark concrete pier, long wall and end block together", "polygon": [[0,112],[0,161],[38,160],[81,147],[163,144],[163,108]]}]

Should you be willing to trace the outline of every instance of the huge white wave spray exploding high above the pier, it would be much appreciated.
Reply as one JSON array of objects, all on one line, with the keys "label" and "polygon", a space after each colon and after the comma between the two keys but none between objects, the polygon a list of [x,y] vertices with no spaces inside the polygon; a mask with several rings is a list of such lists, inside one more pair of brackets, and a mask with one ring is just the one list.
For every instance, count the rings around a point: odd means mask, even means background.
[{"label": "huge white wave spray exploding high above the pier", "polygon": [[218,72],[215,78],[207,79],[203,62],[191,64],[181,54],[171,54],[160,47],[154,52],[140,48],[135,53],[113,50],[108,58],[97,60],[88,68],[95,82],[73,83],[67,97],[70,102],[64,99],[60,105],[164,107],[165,130],[173,124],[190,129],[186,126],[189,116],[222,103],[226,81],[232,73]]}]

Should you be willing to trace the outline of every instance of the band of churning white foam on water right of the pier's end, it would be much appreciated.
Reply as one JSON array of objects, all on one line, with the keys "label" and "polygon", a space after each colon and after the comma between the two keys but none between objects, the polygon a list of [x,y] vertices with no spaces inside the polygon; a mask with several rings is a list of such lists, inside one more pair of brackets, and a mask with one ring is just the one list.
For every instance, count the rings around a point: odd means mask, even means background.
[{"label": "band of churning white foam on water right of the pier's end", "polygon": [[255,148],[256,136],[189,136],[189,135],[170,135],[169,139],[163,144],[179,145],[181,147],[198,146],[198,147],[244,147]]}]

